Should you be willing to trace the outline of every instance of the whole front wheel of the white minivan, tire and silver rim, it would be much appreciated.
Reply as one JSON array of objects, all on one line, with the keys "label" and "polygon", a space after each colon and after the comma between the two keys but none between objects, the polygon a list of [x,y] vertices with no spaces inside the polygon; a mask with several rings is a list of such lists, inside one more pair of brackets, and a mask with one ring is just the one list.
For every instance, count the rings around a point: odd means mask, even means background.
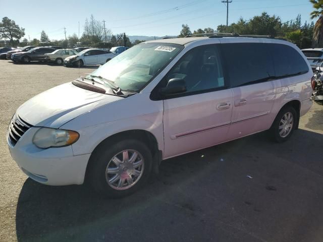
[{"label": "whole front wheel of the white minivan, tire and silver rim", "polygon": [[88,178],[102,196],[119,198],[141,188],[151,169],[151,152],[141,141],[103,142],[91,155]]}]

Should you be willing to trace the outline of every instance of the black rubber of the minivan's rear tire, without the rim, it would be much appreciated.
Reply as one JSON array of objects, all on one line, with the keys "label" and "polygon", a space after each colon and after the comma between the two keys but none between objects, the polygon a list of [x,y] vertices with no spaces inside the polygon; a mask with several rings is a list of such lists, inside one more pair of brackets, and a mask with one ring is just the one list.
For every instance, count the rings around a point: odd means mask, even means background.
[{"label": "black rubber of the minivan's rear tire, without the rim", "polygon": [[[289,115],[289,113],[292,115],[292,118],[293,118],[293,123],[291,124],[292,127],[291,127],[291,130],[288,131],[289,133],[284,133],[283,135],[280,134],[280,132],[282,130],[280,130],[280,126],[284,126],[283,125],[283,117],[286,115]],[[285,116],[286,117],[286,116]],[[271,138],[277,142],[277,143],[282,143],[282,142],[285,142],[287,141],[293,134],[297,124],[298,124],[298,115],[295,111],[295,109],[292,107],[292,106],[286,106],[284,108],[282,108],[279,113],[277,114],[275,120],[274,120],[274,123],[270,129],[270,135],[271,135]]]}]

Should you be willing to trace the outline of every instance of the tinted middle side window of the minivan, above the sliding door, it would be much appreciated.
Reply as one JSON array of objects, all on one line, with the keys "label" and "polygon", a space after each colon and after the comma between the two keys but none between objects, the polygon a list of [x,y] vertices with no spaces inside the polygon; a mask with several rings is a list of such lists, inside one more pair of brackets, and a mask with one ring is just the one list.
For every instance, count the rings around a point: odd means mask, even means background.
[{"label": "tinted middle side window of the minivan, above the sliding door", "polygon": [[272,56],[267,44],[222,44],[223,56],[231,87],[259,83],[275,76]]}]

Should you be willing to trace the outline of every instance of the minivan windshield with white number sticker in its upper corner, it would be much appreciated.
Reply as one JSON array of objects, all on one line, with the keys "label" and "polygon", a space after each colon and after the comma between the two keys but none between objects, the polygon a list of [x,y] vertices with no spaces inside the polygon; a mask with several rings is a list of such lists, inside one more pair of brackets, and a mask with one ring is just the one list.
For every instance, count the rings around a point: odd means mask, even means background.
[{"label": "minivan windshield with white number sticker in its upper corner", "polygon": [[183,45],[169,43],[138,44],[117,55],[91,75],[113,81],[122,90],[138,92],[163,71],[183,48]]}]

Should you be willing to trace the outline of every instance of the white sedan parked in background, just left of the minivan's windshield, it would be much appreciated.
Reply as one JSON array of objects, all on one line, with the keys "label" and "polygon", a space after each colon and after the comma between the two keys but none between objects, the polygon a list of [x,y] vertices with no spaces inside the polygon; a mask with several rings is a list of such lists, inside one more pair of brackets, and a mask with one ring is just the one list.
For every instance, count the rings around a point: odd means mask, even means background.
[{"label": "white sedan parked in background, just left of the minivan's windshield", "polygon": [[102,65],[109,62],[116,54],[104,49],[85,49],[77,55],[72,55],[64,60],[64,66]]}]

